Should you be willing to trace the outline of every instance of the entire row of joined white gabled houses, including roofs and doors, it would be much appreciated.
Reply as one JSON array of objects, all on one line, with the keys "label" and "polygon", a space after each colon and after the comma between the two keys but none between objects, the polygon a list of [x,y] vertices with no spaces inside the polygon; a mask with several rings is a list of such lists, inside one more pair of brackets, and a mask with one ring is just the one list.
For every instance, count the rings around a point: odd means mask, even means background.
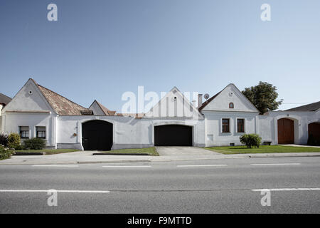
[{"label": "entire row of joined white gabled houses, including roofs and doors", "polygon": [[[312,108],[259,115],[229,84],[199,107],[172,88],[148,113],[122,114],[95,100],[82,107],[29,79],[1,110],[1,132],[21,139],[43,138],[48,147],[116,150],[154,145],[197,147],[240,145],[239,136],[257,133],[262,142],[306,144],[319,135],[320,103]],[[318,105],[317,105],[318,104]]]}]

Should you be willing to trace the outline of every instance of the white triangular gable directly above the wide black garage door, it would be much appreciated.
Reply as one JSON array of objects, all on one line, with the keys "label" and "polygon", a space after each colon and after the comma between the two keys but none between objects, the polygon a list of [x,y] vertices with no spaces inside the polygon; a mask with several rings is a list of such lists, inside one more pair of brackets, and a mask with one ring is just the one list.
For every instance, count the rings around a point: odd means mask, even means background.
[{"label": "white triangular gable directly above the wide black garage door", "polygon": [[198,109],[176,87],[166,93],[145,116],[146,118],[203,118]]}]

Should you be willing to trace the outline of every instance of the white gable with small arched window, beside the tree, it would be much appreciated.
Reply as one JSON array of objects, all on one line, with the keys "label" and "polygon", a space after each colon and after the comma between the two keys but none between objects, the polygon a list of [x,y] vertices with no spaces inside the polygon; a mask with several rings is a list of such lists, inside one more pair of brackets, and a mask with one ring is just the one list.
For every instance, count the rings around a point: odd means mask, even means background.
[{"label": "white gable with small arched window, beside the tree", "polygon": [[[211,100],[210,100],[211,99]],[[210,111],[233,111],[233,112],[259,112],[255,105],[253,105],[250,100],[247,100],[245,95],[243,95],[240,90],[233,84],[229,84],[218,94],[216,94],[213,99],[210,98],[206,105],[202,105],[199,110]],[[229,108],[230,103],[233,103],[234,108]]]}]

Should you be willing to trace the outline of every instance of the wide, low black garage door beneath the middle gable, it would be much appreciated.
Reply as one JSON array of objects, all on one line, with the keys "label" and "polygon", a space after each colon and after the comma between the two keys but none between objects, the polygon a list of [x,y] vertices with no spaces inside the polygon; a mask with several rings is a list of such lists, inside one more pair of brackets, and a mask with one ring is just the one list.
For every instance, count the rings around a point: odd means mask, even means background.
[{"label": "wide, low black garage door beneath the middle gable", "polygon": [[192,127],[184,125],[161,125],[154,127],[154,145],[191,146]]}]

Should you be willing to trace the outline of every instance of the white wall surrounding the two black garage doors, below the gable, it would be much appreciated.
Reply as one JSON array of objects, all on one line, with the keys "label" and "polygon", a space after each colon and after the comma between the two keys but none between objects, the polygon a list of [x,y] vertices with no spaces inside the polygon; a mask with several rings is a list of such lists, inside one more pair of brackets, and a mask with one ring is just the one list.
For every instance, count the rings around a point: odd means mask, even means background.
[{"label": "white wall surrounding the two black garage doors, below the gable", "polygon": [[[105,120],[113,124],[112,150],[154,145],[154,126],[182,124],[193,126],[193,145],[204,146],[204,120],[194,121],[172,118],[159,120],[137,119],[124,116],[60,115],[57,125],[57,146],[82,149],[82,123],[89,120]],[[76,135],[74,135],[76,134]]]}]

